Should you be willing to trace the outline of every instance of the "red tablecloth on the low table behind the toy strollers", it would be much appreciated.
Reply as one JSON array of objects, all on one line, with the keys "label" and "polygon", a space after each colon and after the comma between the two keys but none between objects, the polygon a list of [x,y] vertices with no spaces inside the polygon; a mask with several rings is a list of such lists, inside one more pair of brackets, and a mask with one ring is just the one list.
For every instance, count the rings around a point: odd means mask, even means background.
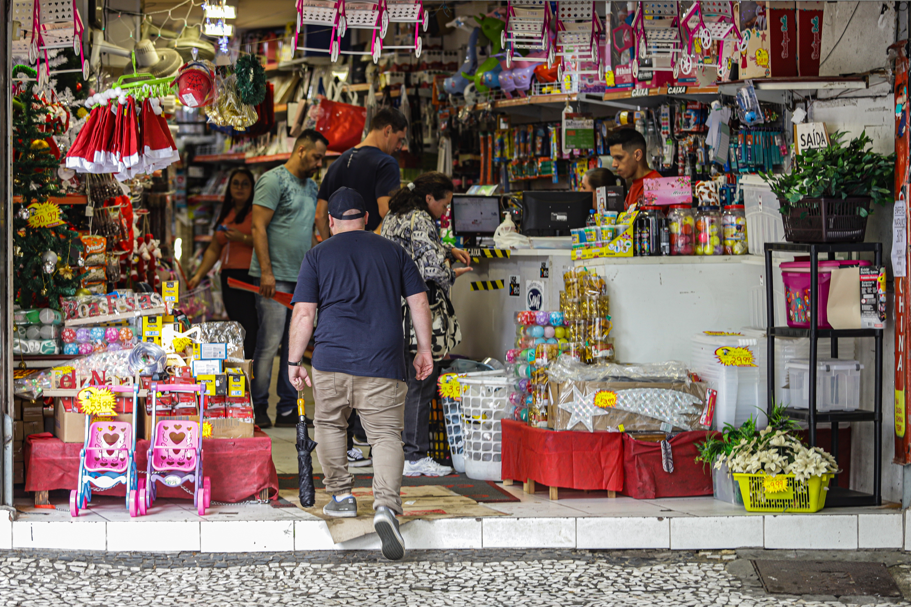
[{"label": "red tablecloth on the low table behind the toy strollers", "polygon": [[[26,437],[26,491],[76,489],[79,450],[82,443],[63,442],[50,433]],[[148,440],[138,440],[136,465],[140,473],[146,470]],[[202,471],[210,477],[212,500],[243,501],[269,489],[272,499],[278,498],[279,478],[272,463],[272,442],[268,435],[255,431],[250,439],[203,439]],[[179,487],[158,484],[162,498],[192,496]],[[118,485],[100,495],[124,495]]]}]

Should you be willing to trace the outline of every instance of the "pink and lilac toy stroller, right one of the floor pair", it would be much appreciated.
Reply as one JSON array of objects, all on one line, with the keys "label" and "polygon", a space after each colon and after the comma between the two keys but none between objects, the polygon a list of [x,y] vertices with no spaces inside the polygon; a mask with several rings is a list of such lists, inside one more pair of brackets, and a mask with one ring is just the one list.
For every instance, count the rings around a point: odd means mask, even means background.
[{"label": "pink and lilac toy stroller, right one of the floor pair", "polygon": [[193,505],[205,515],[211,498],[209,477],[202,477],[202,439],[200,421],[161,420],[156,422],[159,392],[196,392],[200,384],[159,384],[149,387],[152,399],[152,440],[148,447],[148,468],[146,478],[139,481],[140,514],[155,502],[155,482],[169,487],[179,487],[185,482],[193,483]]}]

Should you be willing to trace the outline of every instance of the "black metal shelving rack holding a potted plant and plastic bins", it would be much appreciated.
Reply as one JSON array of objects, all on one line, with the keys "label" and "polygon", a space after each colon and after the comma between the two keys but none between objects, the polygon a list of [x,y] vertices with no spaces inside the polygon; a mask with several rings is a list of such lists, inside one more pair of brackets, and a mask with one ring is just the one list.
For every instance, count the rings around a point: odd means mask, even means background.
[{"label": "black metal shelving rack holding a potted plant and plastic bins", "polygon": [[[809,356],[809,409],[789,409],[788,413],[796,420],[804,420],[809,424],[810,446],[816,446],[816,424],[832,424],[832,456],[838,460],[838,425],[850,421],[873,422],[873,493],[861,493],[832,486],[825,498],[827,508],[854,507],[854,506],[880,506],[882,505],[882,455],[883,455],[883,329],[818,329],[814,314],[810,329],[791,329],[789,327],[775,326],[775,295],[773,291],[773,252],[783,253],[809,253],[810,254],[810,309],[819,309],[819,255],[827,254],[827,258],[834,259],[835,253],[860,253],[872,252],[875,255],[875,265],[883,263],[883,244],[880,242],[858,242],[840,244],[797,244],[791,242],[765,243],[765,306],[768,317],[768,346],[767,352],[775,351],[775,337],[807,337],[810,339]],[[875,365],[874,365],[874,392],[873,410],[855,411],[818,411],[816,410],[816,360],[819,358],[819,339],[831,339],[831,356],[838,358],[839,338],[873,338],[875,340]],[[768,371],[768,414],[772,416],[773,398],[775,394],[775,357],[769,356]],[[837,476],[835,480],[837,480]],[[836,481],[832,481],[834,485]]]}]

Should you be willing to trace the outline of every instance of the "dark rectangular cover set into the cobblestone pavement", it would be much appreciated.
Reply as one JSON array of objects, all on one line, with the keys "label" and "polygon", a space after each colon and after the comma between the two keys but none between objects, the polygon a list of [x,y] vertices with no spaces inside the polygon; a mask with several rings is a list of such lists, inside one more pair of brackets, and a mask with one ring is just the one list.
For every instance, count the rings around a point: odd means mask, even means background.
[{"label": "dark rectangular cover set into the cobblestone pavement", "polygon": [[881,562],[752,561],[771,594],[896,596],[892,575]]}]

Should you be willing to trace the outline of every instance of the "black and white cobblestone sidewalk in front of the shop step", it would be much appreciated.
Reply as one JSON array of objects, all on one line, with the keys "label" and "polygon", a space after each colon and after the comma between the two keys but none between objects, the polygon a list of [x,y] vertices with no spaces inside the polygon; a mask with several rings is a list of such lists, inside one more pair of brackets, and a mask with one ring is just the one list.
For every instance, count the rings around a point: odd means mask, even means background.
[{"label": "black and white cobblestone sidewalk in front of the shop step", "polygon": [[877,602],[875,597],[838,602],[768,595],[751,576],[750,561],[723,557],[727,560],[717,553],[679,551],[414,551],[406,561],[391,563],[363,551],[0,551],[0,605],[844,607],[844,602]]}]

